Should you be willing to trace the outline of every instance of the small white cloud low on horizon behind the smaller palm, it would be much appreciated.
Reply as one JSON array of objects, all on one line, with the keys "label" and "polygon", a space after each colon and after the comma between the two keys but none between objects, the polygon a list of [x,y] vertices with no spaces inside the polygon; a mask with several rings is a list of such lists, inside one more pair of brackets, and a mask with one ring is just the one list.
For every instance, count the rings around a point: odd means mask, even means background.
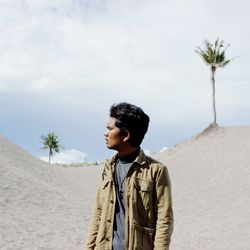
[{"label": "small white cloud low on horizon behind the smaller palm", "polygon": [[[48,162],[48,156],[39,157],[41,160]],[[51,158],[51,163],[58,164],[71,164],[71,163],[83,163],[86,162],[87,155],[76,149],[67,149],[63,152],[55,154]]]}]

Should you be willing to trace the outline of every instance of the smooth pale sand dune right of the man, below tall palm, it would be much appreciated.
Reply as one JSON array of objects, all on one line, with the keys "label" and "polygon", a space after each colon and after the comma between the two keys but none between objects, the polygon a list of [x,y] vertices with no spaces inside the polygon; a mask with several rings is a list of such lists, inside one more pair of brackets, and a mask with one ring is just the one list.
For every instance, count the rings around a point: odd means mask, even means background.
[{"label": "smooth pale sand dune right of the man, below tall palm", "polygon": [[250,126],[208,130],[157,158],[172,179],[172,249],[250,249]]}]

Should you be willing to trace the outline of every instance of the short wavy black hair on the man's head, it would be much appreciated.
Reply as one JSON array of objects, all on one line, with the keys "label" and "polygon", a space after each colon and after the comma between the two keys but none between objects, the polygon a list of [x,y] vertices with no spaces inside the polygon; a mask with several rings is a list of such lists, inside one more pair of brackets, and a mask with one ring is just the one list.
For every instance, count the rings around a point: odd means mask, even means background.
[{"label": "short wavy black hair on the man's head", "polygon": [[148,130],[148,115],[140,107],[121,102],[111,106],[110,117],[117,120],[116,126],[121,130],[121,133],[130,133],[129,144],[139,147]]}]

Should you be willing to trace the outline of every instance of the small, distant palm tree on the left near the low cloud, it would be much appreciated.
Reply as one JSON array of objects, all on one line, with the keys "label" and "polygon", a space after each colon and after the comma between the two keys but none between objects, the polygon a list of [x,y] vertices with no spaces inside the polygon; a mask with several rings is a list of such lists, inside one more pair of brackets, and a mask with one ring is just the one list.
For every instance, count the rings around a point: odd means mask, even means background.
[{"label": "small, distant palm tree on the left near the low cloud", "polygon": [[47,136],[42,135],[42,149],[49,149],[49,164],[54,152],[59,153],[63,146],[59,144],[58,136],[54,132],[49,132]]}]

